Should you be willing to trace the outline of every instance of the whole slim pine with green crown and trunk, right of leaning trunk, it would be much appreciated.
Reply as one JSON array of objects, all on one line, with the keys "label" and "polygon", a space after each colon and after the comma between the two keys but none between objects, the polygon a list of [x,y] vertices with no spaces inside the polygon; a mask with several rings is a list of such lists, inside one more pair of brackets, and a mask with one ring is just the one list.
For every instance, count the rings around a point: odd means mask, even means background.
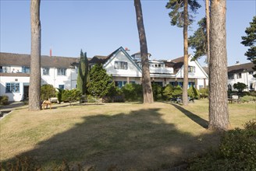
[{"label": "whole slim pine with green crown and trunk, right of leaning trunk", "polygon": [[172,26],[183,27],[183,105],[187,106],[187,86],[188,86],[188,41],[187,27],[193,22],[193,16],[188,13],[188,5],[190,12],[195,13],[201,7],[197,0],[169,0],[165,6],[167,9],[172,9],[169,12]]}]

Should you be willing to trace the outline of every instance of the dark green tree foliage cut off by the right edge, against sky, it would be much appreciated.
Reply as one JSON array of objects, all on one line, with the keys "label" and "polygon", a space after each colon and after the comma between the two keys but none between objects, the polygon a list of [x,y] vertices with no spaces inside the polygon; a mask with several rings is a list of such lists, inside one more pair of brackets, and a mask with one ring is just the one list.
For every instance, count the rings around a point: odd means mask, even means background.
[{"label": "dark green tree foliage cut off by the right edge, against sky", "polygon": [[[254,63],[254,71],[256,71],[256,16],[252,19],[250,26],[246,28],[246,37],[242,37],[241,44],[246,47],[250,47],[248,51],[244,54],[247,59]],[[254,75],[256,78],[256,75]]]}]

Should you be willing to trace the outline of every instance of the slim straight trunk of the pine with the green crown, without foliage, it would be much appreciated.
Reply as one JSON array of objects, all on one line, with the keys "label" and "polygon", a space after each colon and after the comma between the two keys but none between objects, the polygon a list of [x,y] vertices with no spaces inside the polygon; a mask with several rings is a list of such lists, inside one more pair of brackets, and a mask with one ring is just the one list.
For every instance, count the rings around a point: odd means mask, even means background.
[{"label": "slim straight trunk of the pine with the green crown, without foliage", "polygon": [[184,0],[184,24],[183,24],[183,43],[184,43],[184,64],[183,64],[183,105],[187,106],[187,86],[188,86],[188,43],[187,43],[187,26],[188,26],[188,0]]}]

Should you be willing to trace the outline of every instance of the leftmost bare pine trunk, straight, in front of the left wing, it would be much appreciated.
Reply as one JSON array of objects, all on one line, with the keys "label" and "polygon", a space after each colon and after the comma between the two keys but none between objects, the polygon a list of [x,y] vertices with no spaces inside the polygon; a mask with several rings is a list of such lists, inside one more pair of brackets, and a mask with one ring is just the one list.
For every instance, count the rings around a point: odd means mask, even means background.
[{"label": "leftmost bare pine trunk, straight, in front of the left wing", "polygon": [[41,23],[40,0],[31,0],[31,54],[30,54],[30,89],[29,110],[41,110]]}]

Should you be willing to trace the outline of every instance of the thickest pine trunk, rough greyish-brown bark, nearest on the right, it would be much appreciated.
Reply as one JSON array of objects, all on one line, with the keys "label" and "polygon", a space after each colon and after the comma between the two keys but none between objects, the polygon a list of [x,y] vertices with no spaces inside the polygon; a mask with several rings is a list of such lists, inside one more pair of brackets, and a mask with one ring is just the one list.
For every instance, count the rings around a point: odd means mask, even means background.
[{"label": "thickest pine trunk, rough greyish-brown bark, nearest on the right", "polygon": [[227,130],[226,0],[212,0],[210,20],[209,129]]}]

